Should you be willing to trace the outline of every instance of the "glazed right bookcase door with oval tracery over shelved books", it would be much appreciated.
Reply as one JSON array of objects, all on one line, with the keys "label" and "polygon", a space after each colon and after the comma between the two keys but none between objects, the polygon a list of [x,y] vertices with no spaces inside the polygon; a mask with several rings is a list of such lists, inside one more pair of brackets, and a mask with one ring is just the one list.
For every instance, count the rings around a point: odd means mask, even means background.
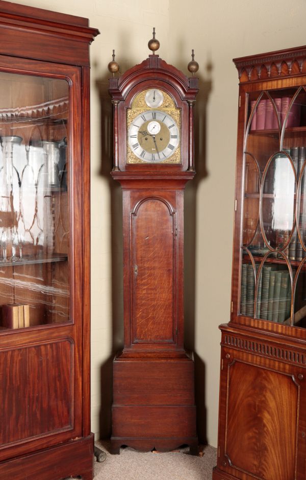
[{"label": "glazed right bookcase door with oval tracery over shelved books", "polygon": [[306,327],[306,87],[249,91],[239,314]]}]

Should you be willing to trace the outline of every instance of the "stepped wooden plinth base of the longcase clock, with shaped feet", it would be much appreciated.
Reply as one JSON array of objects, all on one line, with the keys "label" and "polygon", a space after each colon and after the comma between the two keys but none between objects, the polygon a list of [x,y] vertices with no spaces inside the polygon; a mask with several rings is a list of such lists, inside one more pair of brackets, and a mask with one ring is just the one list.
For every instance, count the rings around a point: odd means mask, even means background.
[{"label": "stepped wooden plinth base of the longcase clock, with shaped feet", "polygon": [[117,357],[113,363],[112,451],[197,446],[194,363],[183,358]]}]

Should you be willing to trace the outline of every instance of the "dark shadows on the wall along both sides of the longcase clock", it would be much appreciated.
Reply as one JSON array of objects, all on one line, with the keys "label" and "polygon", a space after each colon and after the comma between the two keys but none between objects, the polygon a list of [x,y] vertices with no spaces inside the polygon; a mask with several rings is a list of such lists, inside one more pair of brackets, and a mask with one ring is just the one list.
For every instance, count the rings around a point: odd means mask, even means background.
[{"label": "dark shadows on the wall along both sides of the longcase clock", "polygon": [[[183,63],[183,62],[182,62]],[[200,65],[200,69],[202,65]],[[125,69],[125,68],[124,68]],[[182,65],[183,71],[186,64]],[[195,170],[196,176],[185,190],[184,220],[184,317],[186,348],[194,351],[195,346],[195,269],[196,269],[196,198],[197,186],[209,173],[206,170],[206,110],[212,88],[212,65],[205,67],[205,76],[199,71],[199,93],[195,103]],[[120,73],[118,74],[120,75]],[[113,167],[113,106],[109,88],[109,74],[96,81],[100,100],[101,163],[98,175],[103,177],[110,191],[111,245],[112,245],[112,354],[101,366],[101,405],[100,437],[109,438],[111,434],[112,407],[112,363],[115,353],[123,346],[123,275],[122,275],[122,191],[118,182],[110,175]],[[95,172],[96,174],[96,172]],[[199,248],[199,246],[198,246]],[[203,315],[199,321],[206,321]],[[197,406],[197,430],[199,443],[206,443],[206,406],[205,406],[205,364],[194,353],[195,395]]]}]

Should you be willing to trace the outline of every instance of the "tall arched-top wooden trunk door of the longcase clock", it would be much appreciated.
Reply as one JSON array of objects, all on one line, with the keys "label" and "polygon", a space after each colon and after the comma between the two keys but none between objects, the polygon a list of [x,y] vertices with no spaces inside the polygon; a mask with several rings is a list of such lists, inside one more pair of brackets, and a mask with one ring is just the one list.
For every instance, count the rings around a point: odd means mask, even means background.
[{"label": "tall arched-top wooden trunk door of the longcase clock", "polygon": [[159,198],[144,200],[132,214],[134,342],[173,341],[174,222],[174,213]]}]

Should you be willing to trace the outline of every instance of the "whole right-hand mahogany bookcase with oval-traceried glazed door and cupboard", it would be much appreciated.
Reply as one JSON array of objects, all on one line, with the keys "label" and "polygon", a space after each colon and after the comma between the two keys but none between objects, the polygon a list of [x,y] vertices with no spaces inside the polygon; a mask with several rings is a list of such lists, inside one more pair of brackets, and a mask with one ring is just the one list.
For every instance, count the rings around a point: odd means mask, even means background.
[{"label": "whole right-hand mahogany bookcase with oval-traceried glazed door and cupboard", "polygon": [[220,326],[214,480],[306,478],[305,51],[234,59],[232,315]]}]

